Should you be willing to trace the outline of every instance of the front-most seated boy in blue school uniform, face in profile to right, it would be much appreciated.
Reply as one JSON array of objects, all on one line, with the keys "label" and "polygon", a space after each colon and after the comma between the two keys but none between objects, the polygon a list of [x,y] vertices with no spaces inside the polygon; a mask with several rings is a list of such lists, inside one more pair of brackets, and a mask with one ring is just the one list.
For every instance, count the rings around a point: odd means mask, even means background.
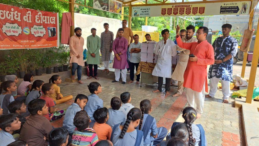
[{"label": "front-most seated boy in blue school uniform, face in profile to right", "polygon": [[90,94],[88,96],[88,102],[86,106],[84,107],[84,110],[87,112],[88,116],[90,117],[90,128],[93,127],[93,124],[96,122],[93,118],[93,113],[99,109],[103,108],[103,100],[99,98],[98,94],[102,92],[102,87],[98,82],[91,82],[88,85],[88,89],[90,91]]}]

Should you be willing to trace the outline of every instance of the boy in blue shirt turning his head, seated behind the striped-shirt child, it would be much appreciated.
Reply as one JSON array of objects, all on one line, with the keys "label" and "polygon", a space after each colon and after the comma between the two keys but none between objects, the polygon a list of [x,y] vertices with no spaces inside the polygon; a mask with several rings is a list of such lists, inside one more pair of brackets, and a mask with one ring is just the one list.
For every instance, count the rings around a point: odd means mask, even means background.
[{"label": "boy in blue shirt turning his head, seated behind the striped-shirt child", "polygon": [[85,96],[84,94],[78,94],[75,98],[75,102],[72,103],[71,106],[69,106],[66,110],[66,114],[65,114],[64,120],[63,120],[63,127],[68,130],[70,139],[76,128],[75,125],[73,124],[74,117],[77,112],[84,109],[87,102],[88,102],[87,96]]}]

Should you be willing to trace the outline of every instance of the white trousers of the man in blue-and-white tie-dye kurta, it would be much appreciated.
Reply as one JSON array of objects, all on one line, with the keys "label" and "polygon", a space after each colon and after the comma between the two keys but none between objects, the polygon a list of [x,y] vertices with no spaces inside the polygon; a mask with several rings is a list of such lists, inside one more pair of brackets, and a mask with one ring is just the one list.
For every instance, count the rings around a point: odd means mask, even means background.
[{"label": "white trousers of the man in blue-and-white tie-dye kurta", "polygon": [[[214,97],[217,89],[218,89],[218,83],[219,83],[218,78],[213,77],[210,79],[210,93],[209,95],[211,97]],[[230,81],[224,81],[224,80],[220,80],[221,82],[221,86],[222,86],[222,93],[223,93],[223,99],[228,100],[229,96],[230,96]]]}]

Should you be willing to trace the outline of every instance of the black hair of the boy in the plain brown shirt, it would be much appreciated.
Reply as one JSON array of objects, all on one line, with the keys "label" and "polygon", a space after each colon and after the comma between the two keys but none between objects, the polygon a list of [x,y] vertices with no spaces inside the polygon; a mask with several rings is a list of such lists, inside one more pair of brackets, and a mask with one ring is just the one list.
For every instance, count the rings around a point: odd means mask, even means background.
[{"label": "black hair of the boy in the plain brown shirt", "polygon": [[31,115],[37,115],[38,111],[42,111],[42,108],[45,106],[46,101],[43,99],[33,99],[28,104],[28,111]]}]

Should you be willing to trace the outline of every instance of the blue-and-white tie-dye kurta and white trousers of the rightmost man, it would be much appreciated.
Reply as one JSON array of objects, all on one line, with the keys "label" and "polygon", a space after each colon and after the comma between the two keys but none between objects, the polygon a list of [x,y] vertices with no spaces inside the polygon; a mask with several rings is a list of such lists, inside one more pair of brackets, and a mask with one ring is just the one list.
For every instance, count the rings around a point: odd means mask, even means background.
[{"label": "blue-and-white tie-dye kurta and white trousers of the rightmost man", "polygon": [[211,97],[214,97],[217,92],[218,82],[221,82],[223,99],[228,100],[230,96],[229,84],[232,79],[233,72],[233,57],[238,50],[238,42],[235,38],[228,36],[226,38],[218,37],[212,44],[214,48],[215,60],[222,60],[228,54],[232,55],[232,58],[222,62],[220,64],[213,64],[210,66],[208,79],[210,79],[210,93]]}]

